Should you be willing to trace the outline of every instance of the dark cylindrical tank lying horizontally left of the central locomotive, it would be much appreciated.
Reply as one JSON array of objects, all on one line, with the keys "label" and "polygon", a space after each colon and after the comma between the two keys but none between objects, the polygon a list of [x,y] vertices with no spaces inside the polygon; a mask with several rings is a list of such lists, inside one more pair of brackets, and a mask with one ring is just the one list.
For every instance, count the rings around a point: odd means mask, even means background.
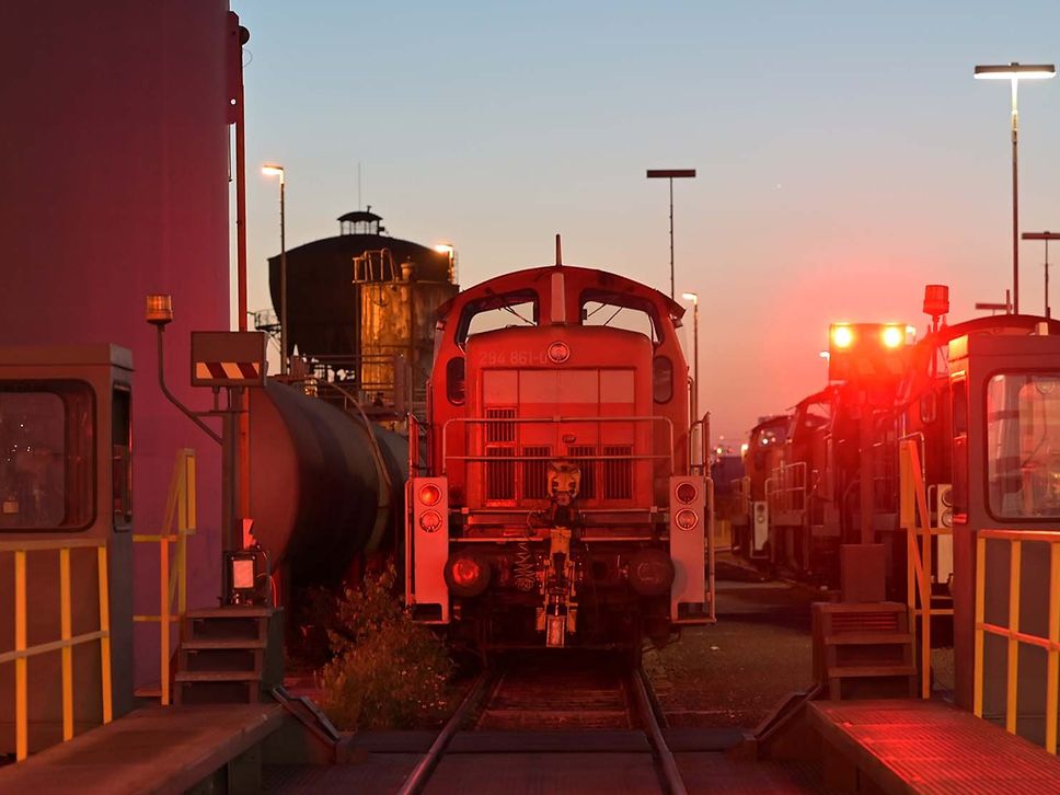
[{"label": "dark cylindrical tank lying horizontally left of the central locomotive", "polygon": [[276,381],[247,391],[251,516],[274,571],[333,587],[358,553],[394,551],[408,440]]}]

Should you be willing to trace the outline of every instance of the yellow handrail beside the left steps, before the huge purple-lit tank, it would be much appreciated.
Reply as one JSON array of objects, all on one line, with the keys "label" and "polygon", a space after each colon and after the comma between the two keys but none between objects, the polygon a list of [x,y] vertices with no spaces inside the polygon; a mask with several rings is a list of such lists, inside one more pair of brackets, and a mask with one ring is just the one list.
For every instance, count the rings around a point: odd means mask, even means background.
[{"label": "yellow handrail beside the left steps, before the huge purple-lit tank", "polygon": [[[140,690],[138,695],[158,695],[162,706],[170,703],[170,656],[172,649],[171,626],[180,626],[187,612],[187,537],[195,533],[195,450],[182,449],[176,452],[173,474],[165,497],[165,515],[162,532],[158,534],[134,534],[134,543],[159,545],[159,612],[158,614],[137,614],[135,623],[159,624],[159,690]],[[170,562],[170,544],[176,544],[176,557]],[[176,598],[176,609],[173,599]]]}]

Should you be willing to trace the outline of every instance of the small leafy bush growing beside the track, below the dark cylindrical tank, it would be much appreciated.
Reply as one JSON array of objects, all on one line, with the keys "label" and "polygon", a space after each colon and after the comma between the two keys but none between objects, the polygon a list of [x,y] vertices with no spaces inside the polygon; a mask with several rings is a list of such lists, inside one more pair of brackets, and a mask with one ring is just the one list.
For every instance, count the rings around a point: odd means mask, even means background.
[{"label": "small leafy bush growing beside the track, below the dark cylindrical tank", "polygon": [[452,661],[394,597],[391,565],[347,589],[329,631],[334,657],[320,672],[324,711],[341,729],[428,728],[450,705]]}]

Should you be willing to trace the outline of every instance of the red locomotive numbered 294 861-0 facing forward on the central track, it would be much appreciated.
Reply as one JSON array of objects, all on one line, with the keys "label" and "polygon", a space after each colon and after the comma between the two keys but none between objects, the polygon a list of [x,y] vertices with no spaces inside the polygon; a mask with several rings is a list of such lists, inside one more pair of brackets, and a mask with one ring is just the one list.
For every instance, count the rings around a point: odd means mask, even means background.
[{"label": "red locomotive numbered 294 861-0 facing forward on the central track", "polygon": [[635,650],[712,620],[682,314],[644,285],[560,264],[439,309],[410,446],[405,596],[418,620],[483,652]]}]

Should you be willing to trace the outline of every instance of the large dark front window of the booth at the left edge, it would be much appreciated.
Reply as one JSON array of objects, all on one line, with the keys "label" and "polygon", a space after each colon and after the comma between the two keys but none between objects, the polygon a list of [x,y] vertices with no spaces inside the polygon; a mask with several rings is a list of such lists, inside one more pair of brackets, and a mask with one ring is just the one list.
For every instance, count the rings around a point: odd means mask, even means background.
[{"label": "large dark front window of the booth at the left edge", "polygon": [[0,382],[0,531],[91,523],[93,403],[79,381]]}]

